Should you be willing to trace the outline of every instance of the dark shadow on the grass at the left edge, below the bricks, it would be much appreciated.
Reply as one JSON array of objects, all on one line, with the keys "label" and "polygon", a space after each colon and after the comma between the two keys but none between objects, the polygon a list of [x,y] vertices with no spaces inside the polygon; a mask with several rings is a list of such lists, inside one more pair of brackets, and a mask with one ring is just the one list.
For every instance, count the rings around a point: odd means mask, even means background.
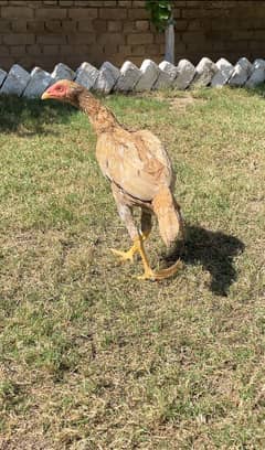
[{"label": "dark shadow on the grass at the left edge, below the bricks", "polygon": [[[0,132],[30,137],[56,132],[54,124],[67,124],[76,109],[59,101],[0,96]],[[51,128],[49,127],[51,126]]]}]

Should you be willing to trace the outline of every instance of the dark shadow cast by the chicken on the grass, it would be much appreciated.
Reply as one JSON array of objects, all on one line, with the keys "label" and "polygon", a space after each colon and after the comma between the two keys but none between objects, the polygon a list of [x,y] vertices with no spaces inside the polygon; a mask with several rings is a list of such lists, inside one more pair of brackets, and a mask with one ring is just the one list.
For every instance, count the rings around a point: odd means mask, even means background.
[{"label": "dark shadow cast by the chicken on the grass", "polygon": [[244,243],[235,236],[200,226],[187,225],[186,231],[186,243],[172,249],[167,260],[180,257],[186,265],[202,265],[211,274],[211,291],[226,297],[230,286],[237,279],[233,258],[244,251]]}]

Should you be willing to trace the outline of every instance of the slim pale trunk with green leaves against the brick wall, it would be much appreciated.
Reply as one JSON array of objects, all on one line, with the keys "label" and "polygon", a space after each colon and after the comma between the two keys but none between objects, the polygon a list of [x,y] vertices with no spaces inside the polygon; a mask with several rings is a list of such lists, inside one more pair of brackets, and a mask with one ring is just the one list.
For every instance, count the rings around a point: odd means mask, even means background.
[{"label": "slim pale trunk with green leaves against the brick wall", "polygon": [[171,0],[146,0],[151,22],[159,32],[165,32],[165,60],[174,63],[174,20]]}]

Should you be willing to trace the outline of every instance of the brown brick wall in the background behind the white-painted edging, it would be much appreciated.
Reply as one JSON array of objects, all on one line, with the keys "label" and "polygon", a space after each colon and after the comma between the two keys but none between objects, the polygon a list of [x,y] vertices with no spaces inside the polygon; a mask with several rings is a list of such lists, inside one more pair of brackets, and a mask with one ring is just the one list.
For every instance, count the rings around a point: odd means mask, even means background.
[{"label": "brown brick wall in the background behind the white-painted edging", "polygon": [[[176,0],[176,57],[264,56],[265,1]],[[144,0],[0,0],[0,67],[51,69],[64,62],[140,64],[163,55],[163,34],[150,26]]]}]

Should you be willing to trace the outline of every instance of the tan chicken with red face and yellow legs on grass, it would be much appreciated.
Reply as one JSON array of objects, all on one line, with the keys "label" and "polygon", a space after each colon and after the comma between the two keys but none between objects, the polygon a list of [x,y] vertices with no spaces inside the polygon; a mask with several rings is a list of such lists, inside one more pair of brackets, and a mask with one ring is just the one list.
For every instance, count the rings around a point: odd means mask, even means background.
[{"label": "tan chicken with red face and yellow legs on grass", "polygon": [[[123,260],[139,254],[144,265],[140,279],[159,280],[173,275],[173,266],[153,271],[145,251],[144,240],[151,231],[151,215],[158,218],[160,235],[169,247],[178,234],[183,235],[183,221],[172,190],[174,176],[169,157],[160,140],[148,130],[129,131],[85,87],[66,79],[59,81],[42,95],[67,101],[89,117],[97,135],[96,158],[109,180],[119,216],[125,223],[132,246],[128,251],[114,250]],[[141,208],[141,228],[134,223],[131,210]]]}]

